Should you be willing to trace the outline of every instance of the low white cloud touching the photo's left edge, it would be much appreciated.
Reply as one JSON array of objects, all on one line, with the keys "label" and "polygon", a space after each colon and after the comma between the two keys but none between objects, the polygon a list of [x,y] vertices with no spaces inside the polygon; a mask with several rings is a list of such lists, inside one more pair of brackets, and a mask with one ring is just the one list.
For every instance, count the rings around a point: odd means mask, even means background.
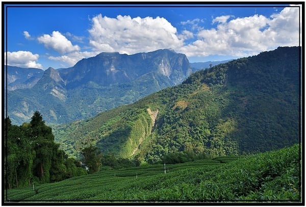
[{"label": "low white cloud touching the photo's left edge", "polygon": [[7,54],[4,54],[5,63],[7,60],[8,65],[24,68],[42,68],[41,64],[36,63],[38,58],[38,54],[32,54],[30,51],[8,51]]}]

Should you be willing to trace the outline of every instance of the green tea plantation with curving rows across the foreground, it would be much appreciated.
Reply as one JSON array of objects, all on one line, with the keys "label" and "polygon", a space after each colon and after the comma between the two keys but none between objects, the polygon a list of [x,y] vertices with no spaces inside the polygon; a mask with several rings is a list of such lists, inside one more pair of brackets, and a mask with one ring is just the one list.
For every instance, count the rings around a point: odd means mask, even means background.
[{"label": "green tea plantation with curving rows across the foreground", "polygon": [[238,157],[104,170],[4,191],[4,202],[297,202],[299,145]]}]

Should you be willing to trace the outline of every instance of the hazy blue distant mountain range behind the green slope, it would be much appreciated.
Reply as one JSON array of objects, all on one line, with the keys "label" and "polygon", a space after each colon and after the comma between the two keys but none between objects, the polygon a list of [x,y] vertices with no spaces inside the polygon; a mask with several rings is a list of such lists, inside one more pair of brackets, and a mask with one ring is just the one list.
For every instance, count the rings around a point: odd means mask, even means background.
[{"label": "hazy blue distant mountain range behind the green slope", "polygon": [[14,124],[29,122],[35,111],[47,123],[89,118],[180,84],[198,69],[169,49],[100,53],[70,68],[45,71],[8,66],[8,115]]}]

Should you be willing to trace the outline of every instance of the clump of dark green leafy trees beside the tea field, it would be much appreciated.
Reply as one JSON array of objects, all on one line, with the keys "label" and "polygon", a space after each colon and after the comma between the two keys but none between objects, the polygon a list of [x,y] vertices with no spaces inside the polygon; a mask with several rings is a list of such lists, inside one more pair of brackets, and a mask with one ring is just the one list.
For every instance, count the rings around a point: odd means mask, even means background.
[{"label": "clump of dark green leafy trees beside the tea field", "polygon": [[54,142],[52,128],[45,125],[39,112],[34,113],[30,123],[21,126],[12,125],[8,117],[4,128],[5,187],[27,186],[33,180],[56,182],[86,174],[74,161],[67,161],[68,156]]}]

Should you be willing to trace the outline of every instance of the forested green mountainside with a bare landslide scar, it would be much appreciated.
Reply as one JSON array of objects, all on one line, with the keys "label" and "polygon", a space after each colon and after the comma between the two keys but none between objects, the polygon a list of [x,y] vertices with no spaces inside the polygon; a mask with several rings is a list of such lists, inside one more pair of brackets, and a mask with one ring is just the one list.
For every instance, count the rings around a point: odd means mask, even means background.
[{"label": "forested green mountainside with a bare landslide scar", "polygon": [[155,163],[168,153],[216,156],[299,142],[300,48],[278,47],[200,70],[131,105],[53,127],[71,156],[104,154]]}]

